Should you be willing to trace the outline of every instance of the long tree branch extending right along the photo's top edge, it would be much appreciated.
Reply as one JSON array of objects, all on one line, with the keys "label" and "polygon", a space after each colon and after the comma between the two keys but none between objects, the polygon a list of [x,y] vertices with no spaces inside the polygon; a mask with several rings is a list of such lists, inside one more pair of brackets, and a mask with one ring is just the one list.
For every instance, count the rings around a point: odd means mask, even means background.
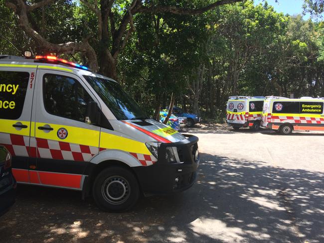
[{"label": "long tree branch extending right along the photo's top edge", "polygon": [[[162,12],[169,12],[169,13],[174,13],[174,14],[181,14],[181,15],[198,15],[203,12],[206,12],[208,10],[211,10],[217,6],[221,6],[224,4],[230,4],[230,3],[235,3],[235,2],[240,2],[243,0],[219,0],[214,3],[211,3],[207,6],[201,7],[201,8],[181,8],[181,7],[174,7],[174,6],[141,6],[138,9],[138,12],[149,12],[149,13],[162,13]],[[142,3],[141,3],[142,4]]]}]

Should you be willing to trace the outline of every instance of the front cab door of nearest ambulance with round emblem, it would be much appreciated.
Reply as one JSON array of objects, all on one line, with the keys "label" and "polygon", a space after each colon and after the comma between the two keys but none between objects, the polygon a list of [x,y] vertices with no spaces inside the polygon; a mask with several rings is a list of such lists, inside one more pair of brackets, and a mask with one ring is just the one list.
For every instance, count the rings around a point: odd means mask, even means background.
[{"label": "front cab door of nearest ambulance with round emblem", "polygon": [[86,118],[99,102],[81,79],[67,72],[41,70],[35,108],[35,183],[81,190],[87,162],[99,152],[100,127]]}]

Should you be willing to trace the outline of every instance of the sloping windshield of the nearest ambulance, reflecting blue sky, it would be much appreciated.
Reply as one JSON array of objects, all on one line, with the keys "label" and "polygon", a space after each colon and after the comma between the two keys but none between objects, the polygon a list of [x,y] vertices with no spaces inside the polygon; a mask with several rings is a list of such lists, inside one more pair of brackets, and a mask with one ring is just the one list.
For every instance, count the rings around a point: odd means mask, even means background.
[{"label": "sloping windshield of the nearest ambulance, reflecting blue sky", "polygon": [[121,86],[108,79],[86,76],[91,87],[105,102],[110,111],[118,120],[147,119],[148,117],[137,103],[121,88]]}]

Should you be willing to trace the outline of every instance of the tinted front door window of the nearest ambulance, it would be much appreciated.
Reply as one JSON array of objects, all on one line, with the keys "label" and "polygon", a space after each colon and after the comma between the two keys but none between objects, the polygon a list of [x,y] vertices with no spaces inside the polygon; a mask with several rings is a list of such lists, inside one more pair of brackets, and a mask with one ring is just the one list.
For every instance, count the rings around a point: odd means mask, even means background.
[{"label": "tinted front door window of the nearest ambulance", "polygon": [[48,113],[85,122],[90,101],[93,99],[77,80],[60,75],[44,75],[44,105]]}]

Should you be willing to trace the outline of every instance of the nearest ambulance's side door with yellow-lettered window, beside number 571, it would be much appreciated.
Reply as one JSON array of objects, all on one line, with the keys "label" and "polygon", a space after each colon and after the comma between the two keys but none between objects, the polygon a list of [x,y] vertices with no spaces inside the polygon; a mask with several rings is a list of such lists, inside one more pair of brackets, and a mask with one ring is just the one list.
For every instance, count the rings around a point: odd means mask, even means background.
[{"label": "nearest ambulance's side door with yellow-lettered window, beside number 571", "polygon": [[29,144],[34,80],[37,65],[0,64],[0,144],[12,155],[12,172],[28,183]]}]

